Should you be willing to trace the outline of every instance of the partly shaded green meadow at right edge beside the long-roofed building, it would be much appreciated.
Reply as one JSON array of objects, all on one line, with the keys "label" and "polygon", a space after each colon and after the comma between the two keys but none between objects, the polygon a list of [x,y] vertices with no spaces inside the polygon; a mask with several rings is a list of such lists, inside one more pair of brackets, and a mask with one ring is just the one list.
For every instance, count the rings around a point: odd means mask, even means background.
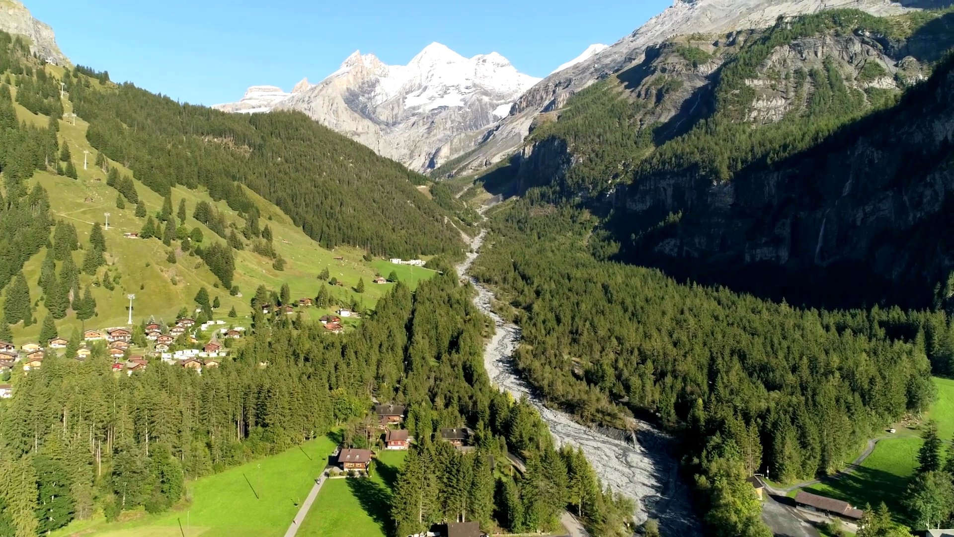
[{"label": "partly shaded green meadow at right edge beside the long-roofed building", "polygon": [[[934,384],[938,387],[938,400],[925,418],[938,422],[938,432],[949,445],[954,434],[954,380],[935,378]],[[918,466],[918,450],[923,441],[917,436],[919,431],[899,429],[899,433],[906,436],[878,442],[855,473],[805,490],[859,506],[878,505],[883,501],[892,512],[900,513],[907,482]],[[947,456],[945,453],[944,457]]]}]

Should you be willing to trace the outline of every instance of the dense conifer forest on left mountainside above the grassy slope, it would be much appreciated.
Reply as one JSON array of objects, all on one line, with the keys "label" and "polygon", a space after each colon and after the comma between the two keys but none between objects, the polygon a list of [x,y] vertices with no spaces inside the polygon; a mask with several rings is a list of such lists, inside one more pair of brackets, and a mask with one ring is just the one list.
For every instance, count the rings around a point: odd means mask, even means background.
[{"label": "dense conifer forest on left mountainside above the grassy slope", "polygon": [[93,147],[161,195],[176,184],[201,185],[244,212],[241,183],[323,247],[411,258],[462,246],[448,213],[415,188],[423,176],[301,114],[229,115],[130,83],[67,82]]}]

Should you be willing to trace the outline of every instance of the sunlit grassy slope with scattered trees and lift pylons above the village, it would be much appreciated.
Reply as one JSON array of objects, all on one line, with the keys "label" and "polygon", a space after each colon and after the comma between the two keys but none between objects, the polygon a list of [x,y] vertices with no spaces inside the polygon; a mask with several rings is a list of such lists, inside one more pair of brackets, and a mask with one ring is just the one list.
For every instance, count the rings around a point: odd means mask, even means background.
[{"label": "sunlit grassy slope with scattered trees and lift pylons above the village", "polygon": [[[72,112],[73,106],[69,101],[64,103],[66,111]],[[17,105],[18,118],[31,124],[46,125],[48,119],[37,116]],[[304,234],[300,227],[295,226],[281,210],[260,198],[254,192],[246,190],[261,211],[261,226],[266,224],[272,228],[276,250],[285,259],[283,271],[272,268],[272,260],[245,249],[236,252],[235,285],[239,286],[242,297],[229,295],[228,290],[216,289],[218,279],[200,262],[197,257],[182,254],[176,264],[166,261],[170,247],[165,247],[156,239],[140,240],[125,239],[123,233],[139,231],[145,222],[143,218],[135,217],[135,204],[126,203],[124,209],[115,206],[118,192],[106,184],[106,174],[93,165],[95,150],[86,140],[88,124],[82,118],[70,121],[60,120],[60,142],[70,147],[73,165],[79,175],[79,180],[56,176],[47,172],[37,172],[32,183],[39,183],[47,190],[52,204],[54,218],[66,220],[76,226],[80,243],[89,245],[89,233],[93,223],[105,223],[103,213],[109,212],[110,228],[104,232],[107,242],[107,263],[114,273],[121,274],[121,281],[115,289],[110,291],[102,287],[93,288],[93,298],[96,300],[97,316],[85,323],[78,321],[73,314],[57,323],[61,335],[69,336],[73,329],[105,328],[123,325],[126,322],[127,293],[135,293],[134,321],[139,322],[150,315],[156,319],[167,321],[176,316],[176,312],[183,306],[195,307],[193,298],[201,287],[209,290],[210,295],[218,296],[221,308],[216,313],[217,318],[225,318],[226,313],[233,307],[239,317],[250,314],[249,299],[260,284],[274,290],[279,290],[282,284],[287,283],[292,297],[314,297],[323,283],[317,275],[321,269],[327,268],[332,276],[344,282],[344,288],[330,288],[332,296],[342,305],[351,302],[352,298],[365,308],[373,308],[391,285],[374,285],[371,280],[384,268],[392,269],[386,261],[367,263],[363,260],[363,251],[352,247],[339,247],[333,251],[326,250]],[[90,151],[88,169],[83,169],[83,151]],[[121,175],[130,175],[132,172],[117,162],[110,162]],[[142,183],[135,181],[136,192],[143,200],[150,214],[155,214],[162,206],[162,198]],[[204,189],[189,190],[179,186],[173,190],[173,207],[176,211],[179,200],[185,200],[186,212],[189,218],[185,225],[190,229],[198,227],[204,235],[204,244],[209,245],[222,240],[208,227],[192,218],[198,202],[204,201],[213,204],[226,215],[229,225],[243,226],[243,220],[224,202],[215,203]],[[87,200],[90,200],[87,202]],[[174,246],[176,243],[174,243]],[[43,306],[42,291],[37,285],[40,268],[46,251],[42,250],[34,255],[24,267],[24,274],[31,286],[31,300],[38,302],[34,311],[36,324],[24,327],[22,324],[12,327],[14,342],[23,343],[35,339],[39,334],[41,323],[47,314]],[[341,257],[342,259],[335,259]],[[74,252],[74,261],[82,267],[83,250]],[[383,264],[383,265],[382,265]],[[406,268],[399,268],[406,269]],[[103,269],[99,270],[99,274]],[[384,271],[387,276],[388,271]],[[429,277],[432,272],[426,269],[414,269],[413,273],[406,274],[399,270],[400,277],[406,283],[415,287],[417,282]],[[365,291],[359,294],[353,290],[360,279],[364,280]],[[93,281],[93,276],[83,275],[80,285],[86,286]],[[306,316],[317,319],[322,314],[332,311],[305,309]],[[238,321],[240,322],[240,321]],[[247,322],[247,321],[246,321]]]}]

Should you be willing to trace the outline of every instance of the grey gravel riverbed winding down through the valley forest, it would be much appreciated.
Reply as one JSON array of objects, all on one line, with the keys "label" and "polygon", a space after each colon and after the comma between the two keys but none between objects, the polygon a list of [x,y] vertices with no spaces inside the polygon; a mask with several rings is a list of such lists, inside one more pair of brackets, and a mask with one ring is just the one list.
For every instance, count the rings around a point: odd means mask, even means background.
[{"label": "grey gravel riverbed winding down through the valley forest", "polygon": [[477,258],[475,252],[483,244],[486,234],[482,231],[471,241],[473,251],[457,266],[457,272],[462,280],[469,281],[477,289],[474,303],[493,319],[497,327],[484,353],[484,366],[491,382],[513,397],[528,396],[550,426],[557,445],[582,448],[604,485],[610,485],[612,490],[635,501],[637,522],[653,517],[659,521],[664,535],[700,535],[701,529],[689,504],[687,488],[678,479],[676,462],[668,453],[669,439],[645,422],[638,422],[638,441],[634,445],[580,425],[569,415],[546,407],[514,372],[511,356],[520,342],[520,327],[504,322],[500,315],[490,310],[493,293],[469,274]]}]

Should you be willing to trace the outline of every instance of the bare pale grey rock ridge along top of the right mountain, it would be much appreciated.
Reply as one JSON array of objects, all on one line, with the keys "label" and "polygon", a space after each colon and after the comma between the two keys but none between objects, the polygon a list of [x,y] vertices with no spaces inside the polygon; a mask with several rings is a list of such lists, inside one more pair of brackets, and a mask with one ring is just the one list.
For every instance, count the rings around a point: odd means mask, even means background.
[{"label": "bare pale grey rock ridge along top of the right mountain", "polygon": [[461,164],[461,171],[480,169],[513,153],[529,134],[537,115],[558,110],[576,92],[596,80],[633,68],[646,49],[675,35],[720,33],[771,26],[780,15],[791,16],[835,8],[872,14],[900,13],[911,0],[674,0],[672,8],[653,17],[608,49],[558,71],[522,97],[507,118],[487,130],[479,147]]}]

